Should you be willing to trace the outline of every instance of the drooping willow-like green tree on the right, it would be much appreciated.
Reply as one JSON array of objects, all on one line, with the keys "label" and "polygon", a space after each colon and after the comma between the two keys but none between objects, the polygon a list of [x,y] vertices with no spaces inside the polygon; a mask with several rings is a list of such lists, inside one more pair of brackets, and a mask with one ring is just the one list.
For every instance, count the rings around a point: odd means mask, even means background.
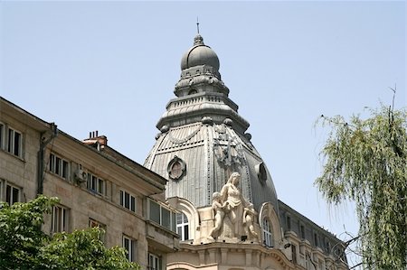
[{"label": "drooping willow-like green tree on the right", "polygon": [[322,119],[332,129],[319,191],[334,204],[355,201],[366,269],[406,269],[407,112],[381,107],[365,120]]}]

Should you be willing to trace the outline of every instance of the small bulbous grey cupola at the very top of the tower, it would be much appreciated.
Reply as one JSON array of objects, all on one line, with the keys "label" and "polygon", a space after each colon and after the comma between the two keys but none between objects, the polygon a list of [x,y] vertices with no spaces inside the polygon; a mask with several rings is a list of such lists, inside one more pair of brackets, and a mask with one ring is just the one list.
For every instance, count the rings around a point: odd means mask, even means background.
[{"label": "small bulbous grey cupola at the very top of the tower", "polygon": [[194,46],[185,52],[181,60],[181,70],[202,65],[208,65],[214,70],[219,70],[218,56],[211,47],[204,44],[204,38],[198,34],[194,38]]}]

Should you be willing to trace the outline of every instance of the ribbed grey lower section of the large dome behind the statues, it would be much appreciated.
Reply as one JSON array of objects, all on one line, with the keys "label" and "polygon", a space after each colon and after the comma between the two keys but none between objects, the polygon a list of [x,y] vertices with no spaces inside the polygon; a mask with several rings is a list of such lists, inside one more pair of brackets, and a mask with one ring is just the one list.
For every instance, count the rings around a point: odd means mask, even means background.
[{"label": "ribbed grey lower section of the large dome behind the statues", "polygon": [[[216,147],[227,145],[230,138],[233,153],[240,153],[239,162],[225,166],[215,154]],[[224,149],[224,148],[223,148]],[[168,164],[175,155],[186,164],[185,175],[173,180],[169,178]],[[267,180],[261,181],[256,172],[256,165],[263,163],[256,149],[247,139],[224,125],[191,125],[171,128],[161,135],[148,159],[151,161],[149,169],[165,177],[166,198],[180,197],[190,200],[196,207],[212,204],[212,195],[221,191],[232,172],[241,173],[241,192],[245,199],[250,200],[255,209],[270,201],[278,208],[277,194],[274,189],[270,173],[267,170]]]}]

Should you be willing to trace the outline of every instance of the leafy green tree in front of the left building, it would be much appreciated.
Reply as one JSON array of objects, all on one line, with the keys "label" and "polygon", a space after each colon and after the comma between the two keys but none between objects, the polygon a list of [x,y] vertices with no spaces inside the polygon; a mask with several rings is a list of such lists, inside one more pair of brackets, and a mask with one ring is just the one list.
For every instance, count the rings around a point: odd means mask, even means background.
[{"label": "leafy green tree in front of the left building", "polygon": [[57,198],[39,196],[0,209],[0,269],[139,269],[128,262],[122,247],[107,248],[99,228],[47,236],[43,215]]}]

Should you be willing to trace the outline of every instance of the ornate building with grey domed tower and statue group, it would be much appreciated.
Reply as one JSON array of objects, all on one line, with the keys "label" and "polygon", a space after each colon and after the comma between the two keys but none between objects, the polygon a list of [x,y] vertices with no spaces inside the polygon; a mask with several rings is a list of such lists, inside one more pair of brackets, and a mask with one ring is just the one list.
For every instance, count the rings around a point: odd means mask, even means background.
[{"label": "ornate building with grey domed tower and statue group", "polygon": [[219,68],[198,34],[145,162],[179,211],[167,269],[347,269],[344,243],[278,200]]}]

